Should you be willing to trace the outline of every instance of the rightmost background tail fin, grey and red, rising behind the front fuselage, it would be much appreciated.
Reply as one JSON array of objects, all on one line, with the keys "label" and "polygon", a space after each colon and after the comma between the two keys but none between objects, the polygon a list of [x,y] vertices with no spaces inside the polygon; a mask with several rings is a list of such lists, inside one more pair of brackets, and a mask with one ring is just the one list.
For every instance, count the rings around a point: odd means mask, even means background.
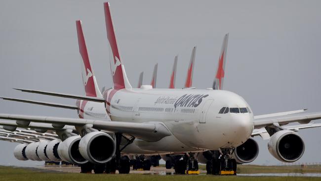
[{"label": "rightmost background tail fin, grey and red, rising behind the front fuselage", "polygon": [[225,62],[226,62],[228,41],[229,41],[229,34],[227,33],[223,39],[223,45],[222,45],[220,57],[218,59],[216,76],[215,76],[215,79],[213,82],[213,89],[214,90],[222,90],[223,89],[224,71],[225,71]]}]

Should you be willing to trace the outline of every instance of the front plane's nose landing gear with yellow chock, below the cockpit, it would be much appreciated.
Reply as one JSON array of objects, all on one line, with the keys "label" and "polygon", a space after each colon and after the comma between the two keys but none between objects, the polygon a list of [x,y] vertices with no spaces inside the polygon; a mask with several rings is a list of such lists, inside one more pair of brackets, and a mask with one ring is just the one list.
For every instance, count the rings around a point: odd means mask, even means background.
[{"label": "front plane's nose landing gear with yellow chock, below the cockpit", "polygon": [[[221,149],[220,154],[213,151],[213,157],[206,163],[206,173],[212,175],[236,175],[237,163],[231,158],[233,149]],[[220,155],[220,156],[219,156]]]}]

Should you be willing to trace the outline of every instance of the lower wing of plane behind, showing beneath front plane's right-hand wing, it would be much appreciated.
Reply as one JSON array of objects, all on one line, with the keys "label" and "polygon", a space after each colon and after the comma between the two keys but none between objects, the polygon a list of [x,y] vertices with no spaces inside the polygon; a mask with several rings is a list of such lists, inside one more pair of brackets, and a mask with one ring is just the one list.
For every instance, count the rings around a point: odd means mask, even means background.
[{"label": "lower wing of plane behind, showing beneath front plane's right-hand wing", "polygon": [[[309,123],[309,124],[302,124],[302,125],[291,125],[291,126],[282,126],[284,130],[291,130],[294,132],[298,132],[299,130],[302,129],[307,129],[307,128],[317,128],[321,127],[321,123]],[[270,135],[266,131],[265,128],[260,128],[260,129],[254,129],[252,132],[252,136],[261,136],[263,139],[269,139]]]}]

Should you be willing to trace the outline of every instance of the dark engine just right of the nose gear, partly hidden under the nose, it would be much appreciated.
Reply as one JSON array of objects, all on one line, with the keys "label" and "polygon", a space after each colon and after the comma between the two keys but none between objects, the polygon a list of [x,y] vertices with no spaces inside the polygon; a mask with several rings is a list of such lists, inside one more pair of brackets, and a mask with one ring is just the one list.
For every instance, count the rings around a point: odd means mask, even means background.
[{"label": "dark engine just right of the nose gear, partly hidden under the nose", "polygon": [[234,150],[232,157],[237,163],[243,164],[254,161],[258,154],[259,146],[257,142],[249,138]]}]

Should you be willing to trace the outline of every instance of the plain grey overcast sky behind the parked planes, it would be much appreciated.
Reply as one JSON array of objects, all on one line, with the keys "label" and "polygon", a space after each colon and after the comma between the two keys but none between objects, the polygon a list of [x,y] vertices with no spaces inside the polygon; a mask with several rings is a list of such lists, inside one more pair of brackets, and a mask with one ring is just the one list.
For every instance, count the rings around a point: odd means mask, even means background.
[{"label": "plain grey overcast sky behind the parked planes", "polygon": [[[1,0],[0,96],[74,104],[14,91],[30,88],[84,94],[75,21],[82,20],[89,58],[100,88],[111,87],[109,44],[101,0]],[[129,81],[139,72],[149,84],[159,63],[158,88],[167,88],[178,54],[176,87],[184,85],[197,45],[193,86],[211,87],[223,37],[230,33],[224,89],[240,94],[255,115],[309,108],[321,111],[320,0],[111,0],[120,53]],[[0,101],[1,113],[77,117],[75,111]],[[316,121],[316,122],[321,122]],[[321,128],[299,132],[298,161],[321,162]],[[260,146],[252,164],[280,164]],[[13,156],[17,143],[0,141],[1,165],[36,165]]]}]

